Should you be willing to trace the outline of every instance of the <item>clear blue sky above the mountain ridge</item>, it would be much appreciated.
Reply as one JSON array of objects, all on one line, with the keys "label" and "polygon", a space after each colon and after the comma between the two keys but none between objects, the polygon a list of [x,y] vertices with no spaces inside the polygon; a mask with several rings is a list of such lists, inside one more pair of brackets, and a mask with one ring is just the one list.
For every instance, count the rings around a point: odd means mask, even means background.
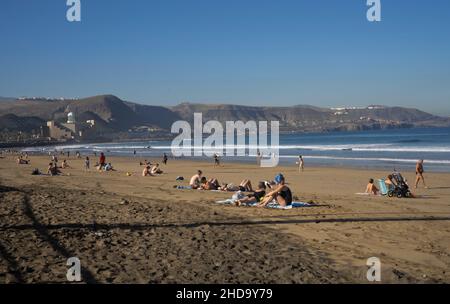
[{"label": "clear blue sky above the mountain ridge", "polygon": [[0,2],[0,96],[386,104],[450,114],[450,1]]}]

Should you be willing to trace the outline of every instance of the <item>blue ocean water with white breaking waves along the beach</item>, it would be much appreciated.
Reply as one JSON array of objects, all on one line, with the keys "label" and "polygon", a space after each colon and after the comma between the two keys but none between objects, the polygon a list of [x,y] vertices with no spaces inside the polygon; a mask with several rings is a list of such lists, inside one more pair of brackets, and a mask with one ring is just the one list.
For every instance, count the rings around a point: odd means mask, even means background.
[{"label": "blue ocean water with white breaking waves along the beach", "polygon": [[[170,141],[61,145],[28,148],[26,151],[54,150],[152,158],[170,155]],[[248,152],[248,151],[247,151]],[[345,166],[386,170],[415,168],[418,159],[425,160],[425,170],[450,172],[450,128],[398,129],[317,134],[282,134],[280,163],[295,165],[302,155],[306,166]],[[254,155],[223,157],[223,161],[255,162]]]}]

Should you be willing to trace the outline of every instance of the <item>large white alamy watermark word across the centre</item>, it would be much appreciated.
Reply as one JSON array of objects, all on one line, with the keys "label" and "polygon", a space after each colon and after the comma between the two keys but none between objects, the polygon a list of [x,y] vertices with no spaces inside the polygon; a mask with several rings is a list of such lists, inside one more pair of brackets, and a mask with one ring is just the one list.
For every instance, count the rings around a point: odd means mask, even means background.
[{"label": "large white alamy watermark word across the centre", "polygon": [[[246,156],[248,150],[249,156],[261,157],[261,167],[276,167],[279,162],[279,121],[270,122],[270,132],[267,121],[227,121],[224,128],[215,120],[203,124],[202,113],[194,113],[193,128],[189,122],[180,120],[172,125],[171,132],[179,134],[171,145],[175,157]],[[210,135],[204,139],[204,134]]]}]

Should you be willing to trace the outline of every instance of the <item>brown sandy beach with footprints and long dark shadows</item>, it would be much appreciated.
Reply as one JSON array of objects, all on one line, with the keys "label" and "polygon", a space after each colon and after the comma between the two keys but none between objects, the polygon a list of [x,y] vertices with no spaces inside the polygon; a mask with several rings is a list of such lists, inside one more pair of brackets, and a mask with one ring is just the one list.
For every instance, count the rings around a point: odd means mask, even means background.
[{"label": "brown sandy beach with footprints and long dark shadows", "polygon": [[[355,194],[388,171],[170,159],[163,175],[142,177],[137,157],[108,157],[116,172],[86,172],[71,157],[73,169],[49,177],[31,175],[48,156],[30,159],[0,159],[0,283],[66,283],[69,257],[87,283],[368,283],[370,257],[382,283],[450,283],[448,173],[426,173],[429,189],[397,199]],[[223,206],[232,193],[174,189],[197,169],[234,184],[282,172],[318,206]],[[412,184],[414,172],[403,174]]]}]

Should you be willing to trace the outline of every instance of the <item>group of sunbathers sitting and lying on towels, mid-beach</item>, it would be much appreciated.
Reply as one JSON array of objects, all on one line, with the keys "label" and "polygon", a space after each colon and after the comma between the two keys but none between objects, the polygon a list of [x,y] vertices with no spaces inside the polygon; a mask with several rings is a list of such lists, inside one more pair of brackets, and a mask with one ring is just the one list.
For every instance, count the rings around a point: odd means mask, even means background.
[{"label": "group of sunbathers sitting and lying on towels, mid-beach", "polygon": [[286,185],[285,177],[282,174],[278,174],[272,182],[259,182],[257,188],[253,189],[252,183],[248,179],[244,179],[239,186],[221,184],[216,178],[207,179],[203,176],[203,172],[198,170],[197,174],[192,176],[189,186],[198,190],[247,192],[247,195],[235,200],[236,206],[257,203],[258,207],[265,207],[275,201],[285,207],[291,205],[293,201],[291,189]]}]

